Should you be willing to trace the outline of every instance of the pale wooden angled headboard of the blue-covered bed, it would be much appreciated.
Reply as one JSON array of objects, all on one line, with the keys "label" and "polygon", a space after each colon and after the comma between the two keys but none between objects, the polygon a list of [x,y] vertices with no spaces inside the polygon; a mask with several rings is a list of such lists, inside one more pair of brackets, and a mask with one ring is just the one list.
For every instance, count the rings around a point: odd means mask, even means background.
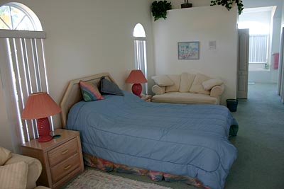
[{"label": "pale wooden angled headboard of the blue-covered bed", "polygon": [[74,79],[69,82],[66,91],[62,97],[62,100],[60,102],[60,108],[62,110],[60,114],[62,128],[65,128],[67,122],[67,115],[72,105],[83,100],[79,82],[80,81],[95,82],[99,87],[99,80],[102,78],[102,76],[105,76],[106,79],[109,79],[109,81],[116,83],[114,79],[112,79],[112,77],[107,72],[102,74],[95,74],[93,76],[86,76],[80,79]]}]

